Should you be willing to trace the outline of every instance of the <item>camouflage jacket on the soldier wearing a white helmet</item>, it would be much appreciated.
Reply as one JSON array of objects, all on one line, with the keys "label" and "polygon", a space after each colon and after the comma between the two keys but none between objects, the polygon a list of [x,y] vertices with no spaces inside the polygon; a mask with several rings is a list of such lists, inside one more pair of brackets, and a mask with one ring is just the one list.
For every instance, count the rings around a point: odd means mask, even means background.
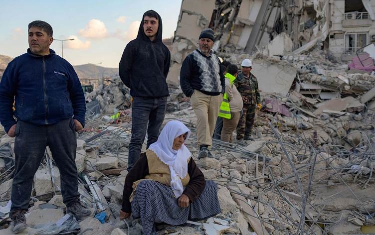
[{"label": "camouflage jacket on the soldier wearing a white helmet", "polygon": [[247,78],[242,72],[239,72],[237,79],[234,80],[234,85],[241,94],[244,105],[256,105],[260,103],[258,81],[252,73]]}]

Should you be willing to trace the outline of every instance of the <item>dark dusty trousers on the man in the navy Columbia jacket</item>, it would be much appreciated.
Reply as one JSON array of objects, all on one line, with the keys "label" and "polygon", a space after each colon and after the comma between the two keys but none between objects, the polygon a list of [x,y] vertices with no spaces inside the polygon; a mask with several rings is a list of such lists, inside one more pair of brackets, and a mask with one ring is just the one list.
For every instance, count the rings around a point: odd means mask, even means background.
[{"label": "dark dusty trousers on the man in the navy Columbia jacket", "polygon": [[15,172],[11,189],[11,213],[27,210],[32,181],[44,157],[46,146],[49,146],[60,171],[64,204],[68,205],[79,198],[75,165],[77,140],[73,120],[65,119],[52,125],[18,121],[14,140]]}]

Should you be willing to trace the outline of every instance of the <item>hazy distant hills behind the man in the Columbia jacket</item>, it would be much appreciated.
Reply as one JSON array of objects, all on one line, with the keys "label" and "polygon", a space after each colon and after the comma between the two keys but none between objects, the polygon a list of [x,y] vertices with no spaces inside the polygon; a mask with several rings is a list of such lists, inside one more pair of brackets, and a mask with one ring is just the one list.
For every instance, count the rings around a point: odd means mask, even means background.
[{"label": "hazy distant hills behind the man in the Columbia jacket", "polygon": [[[6,66],[12,59],[13,58],[6,56],[6,55],[0,55],[0,76],[1,76],[1,72],[6,68]],[[97,66],[93,64],[75,65],[73,67],[80,79],[119,77],[118,68],[106,68],[106,67],[101,67],[101,66]]]}]

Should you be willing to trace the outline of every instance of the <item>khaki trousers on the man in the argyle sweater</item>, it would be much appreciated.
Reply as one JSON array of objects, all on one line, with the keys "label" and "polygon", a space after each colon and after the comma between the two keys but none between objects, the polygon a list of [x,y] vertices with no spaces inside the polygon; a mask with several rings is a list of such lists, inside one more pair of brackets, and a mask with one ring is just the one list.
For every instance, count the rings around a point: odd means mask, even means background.
[{"label": "khaki trousers on the man in the argyle sweater", "polygon": [[196,136],[197,144],[212,145],[212,134],[215,129],[216,118],[222,102],[222,94],[209,96],[194,90],[190,97],[191,107],[197,118]]}]

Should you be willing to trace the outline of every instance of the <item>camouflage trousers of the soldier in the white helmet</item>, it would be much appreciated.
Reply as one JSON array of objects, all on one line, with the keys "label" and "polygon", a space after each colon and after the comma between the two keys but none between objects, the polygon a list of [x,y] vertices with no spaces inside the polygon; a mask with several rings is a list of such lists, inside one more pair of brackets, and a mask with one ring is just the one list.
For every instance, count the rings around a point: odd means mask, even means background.
[{"label": "camouflage trousers of the soldier in the white helmet", "polygon": [[237,125],[237,139],[241,140],[245,135],[250,135],[255,120],[256,105],[243,105],[243,114]]}]

